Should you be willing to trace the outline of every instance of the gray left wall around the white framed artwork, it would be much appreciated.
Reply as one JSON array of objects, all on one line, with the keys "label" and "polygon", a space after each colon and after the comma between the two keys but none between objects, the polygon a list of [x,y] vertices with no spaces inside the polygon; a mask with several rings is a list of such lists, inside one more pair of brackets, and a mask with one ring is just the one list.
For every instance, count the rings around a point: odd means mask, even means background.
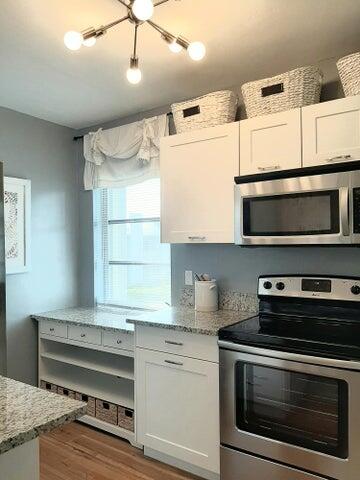
[{"label": "gray left wall around the white framed artwork", "polygon": [[32,187],[28,273],[7,276],[8,376],[36,383],[37,329],[29,315],[78,303],[78,179],[73,131],[0,108],[0,160]]}]

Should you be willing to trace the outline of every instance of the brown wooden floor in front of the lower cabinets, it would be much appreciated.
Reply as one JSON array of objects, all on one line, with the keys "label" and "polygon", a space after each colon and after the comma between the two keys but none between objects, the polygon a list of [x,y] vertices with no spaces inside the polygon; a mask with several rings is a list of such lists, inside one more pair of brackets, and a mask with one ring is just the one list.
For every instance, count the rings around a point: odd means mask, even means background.
[{"label": "brown wooden floor in front of the lower cabinets", "polygon": [[40,438],[40,480],[189,480],[190,474],[80,423]]}]

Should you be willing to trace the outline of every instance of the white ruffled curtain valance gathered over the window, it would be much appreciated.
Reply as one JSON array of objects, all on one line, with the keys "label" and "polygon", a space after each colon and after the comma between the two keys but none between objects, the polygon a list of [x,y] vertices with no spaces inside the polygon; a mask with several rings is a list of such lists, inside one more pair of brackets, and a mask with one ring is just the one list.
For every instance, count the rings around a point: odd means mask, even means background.
[{"label": "white ruffled curtain valance gathered over the window", "polygon": [[169,134],[167,115],[84,137],[84,186],[123,187],[159,176],[160,139]]}]

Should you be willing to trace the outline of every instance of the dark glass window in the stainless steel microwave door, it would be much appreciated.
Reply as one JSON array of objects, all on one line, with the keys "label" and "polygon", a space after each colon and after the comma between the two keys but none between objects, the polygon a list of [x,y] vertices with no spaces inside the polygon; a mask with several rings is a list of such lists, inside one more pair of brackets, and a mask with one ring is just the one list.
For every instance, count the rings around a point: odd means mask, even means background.
[{"label": "dark glass window in the stainless steel microwave door", "polygon": [[340,232],[338,190],[244,198],[243,210],[245,236]]}]

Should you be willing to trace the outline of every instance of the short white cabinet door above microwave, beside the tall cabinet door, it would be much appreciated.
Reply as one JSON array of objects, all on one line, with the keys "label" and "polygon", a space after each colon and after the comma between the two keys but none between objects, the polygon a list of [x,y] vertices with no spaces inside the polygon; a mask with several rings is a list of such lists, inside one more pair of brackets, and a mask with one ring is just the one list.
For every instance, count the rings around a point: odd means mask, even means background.
[{"label": "short white cabinet door above microwave, beside the tall cabinet door", "polygon": [[240,122],[240,175],[300,167],[300,108]]}]

